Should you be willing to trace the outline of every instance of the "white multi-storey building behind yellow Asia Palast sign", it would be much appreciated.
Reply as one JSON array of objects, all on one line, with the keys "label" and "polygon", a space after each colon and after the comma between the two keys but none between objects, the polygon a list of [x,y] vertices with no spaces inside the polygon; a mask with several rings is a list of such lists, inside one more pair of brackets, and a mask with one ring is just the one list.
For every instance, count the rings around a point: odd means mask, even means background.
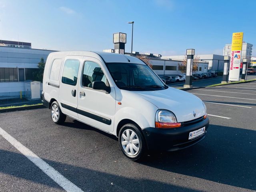
[{"label": "white multi-storey building behind yellow Asia Palast sign", "polygon": [[[248,61],[251,60],[252,57],[252,44],[243,42],[242,44],[242,53],[241,53],[241,59],[247,58]],[[229,55],[231,53],[231,44],[226,44],[223,49],[223,55]]]}]

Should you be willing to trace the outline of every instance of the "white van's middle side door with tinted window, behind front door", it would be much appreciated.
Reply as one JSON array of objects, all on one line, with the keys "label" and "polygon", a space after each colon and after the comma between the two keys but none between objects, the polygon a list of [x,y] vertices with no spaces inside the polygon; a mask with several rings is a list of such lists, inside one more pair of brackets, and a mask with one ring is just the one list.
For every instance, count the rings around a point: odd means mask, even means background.
[{"label": "white van's middle side door with tinted window, behind front door", "polygon": [[78,118],[78,75],[80,74],[80,63],[83,56],[67,56],[64,61],[60,79],[60,107],[64,114]]}]

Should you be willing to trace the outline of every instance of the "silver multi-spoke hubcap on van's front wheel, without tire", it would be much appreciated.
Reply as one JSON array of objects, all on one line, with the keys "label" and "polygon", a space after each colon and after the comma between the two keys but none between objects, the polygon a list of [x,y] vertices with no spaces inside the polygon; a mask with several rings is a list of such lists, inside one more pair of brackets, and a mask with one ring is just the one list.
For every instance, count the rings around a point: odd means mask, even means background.
[{"label": "silver multi-spoke hubcap on van's front wheel, without tire", "polygon": [[125,130],[122,134],[121,142],[124,151],[128,155],[134,156],[139,152],[140,141],[137,134],[133,130]]}]

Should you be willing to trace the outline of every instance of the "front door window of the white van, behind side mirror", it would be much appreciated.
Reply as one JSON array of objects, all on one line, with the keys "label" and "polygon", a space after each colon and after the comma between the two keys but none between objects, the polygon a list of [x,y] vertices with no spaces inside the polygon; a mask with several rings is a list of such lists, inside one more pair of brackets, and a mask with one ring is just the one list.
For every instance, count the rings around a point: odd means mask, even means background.
[{"label": "front door window of the white van, behind side mirror", "polygon": [[94,81],[103,81],[107,85],[107,78],[99,64],[92,61],[86,61],[84,62],[82,85],[84,87],[92,87],[92,82]]}]

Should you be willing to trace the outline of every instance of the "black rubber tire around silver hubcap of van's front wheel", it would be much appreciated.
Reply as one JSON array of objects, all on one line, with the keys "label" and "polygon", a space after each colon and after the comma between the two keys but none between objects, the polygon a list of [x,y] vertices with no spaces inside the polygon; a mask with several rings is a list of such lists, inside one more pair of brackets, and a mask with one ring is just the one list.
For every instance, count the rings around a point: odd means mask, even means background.
[{"label": "black rubber tire around silver hubcap of van's front wheel", "polygon": [[[133,131],[136,135],[134,136],[135,140],[138,137],[138,141],[139,141],[139,145],[136,144],[136,147],[138,147],[138,151],[136,152],[136,150],[132,149],[134,153],[134,155],[128,154],[131,153],[130,149],[128,149],[128,153],[125,151],[123,145],[122,145],[122,140],[126,141],[122,138],[122,134],[124,133],[126,136],[126,131],[129,131],[130,133],[132,133],[131,131]],[[130,131],[131,130],[131,131]],[[144,136],[142,135],[142,132],[140,130],[140,127],[138,125],[135,124],[125,124],[124,126],[122,126],[122,128],[120,129],[120,132],[118,134],[118,142],[119,142],[119,146],[123,152],[123,154],[129,158],[130,160],[136,161],[136,160],[142,160],[146,153],[147,153],[147,146],[146,146],[146,140],[144,138]],[[129,146],[130,144],[132,145],[132,141],[130,141],[130,143],[128,143]],[[127,145],[128,145],[127,144]],[[126,145],[126,147],[127,147]]]}]

